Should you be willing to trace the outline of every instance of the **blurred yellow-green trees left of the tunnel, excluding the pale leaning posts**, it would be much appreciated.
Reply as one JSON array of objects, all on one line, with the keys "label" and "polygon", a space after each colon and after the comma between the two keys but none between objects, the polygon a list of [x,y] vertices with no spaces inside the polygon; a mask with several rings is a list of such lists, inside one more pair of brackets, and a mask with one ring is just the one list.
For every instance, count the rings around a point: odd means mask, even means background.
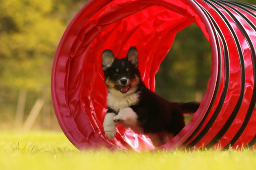
[{"label": "blurred yellow-green trees left of the tunnel, excluding the pale leaning posts", "polygon": [[28,92],[25,113],[30,112],[39,96],[47,96],[47,107],[51,107],[50,79],[55,51],[67,24],[84,3],[84,0],[0,0],[1,120],[13,117],[20,89]]}]

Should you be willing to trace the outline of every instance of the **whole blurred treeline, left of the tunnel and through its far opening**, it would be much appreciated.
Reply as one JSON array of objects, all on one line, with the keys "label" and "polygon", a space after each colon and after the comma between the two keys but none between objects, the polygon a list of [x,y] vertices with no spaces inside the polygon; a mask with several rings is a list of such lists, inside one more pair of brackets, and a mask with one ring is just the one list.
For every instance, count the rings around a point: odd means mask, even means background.
[{"label": "whole blurred treeline, left of the tunnel and through its far opening", "polygon": [[[242,0],[256,4],[256,0]],[[87,0],[0,0],[0,128],[58,128],[52,108],[52,62],[67,25]],[[211,49],[192,25],[177,34],[156,76],[172,101],[200,100]],[[30,116],[29,116],[30,115]]]}]

